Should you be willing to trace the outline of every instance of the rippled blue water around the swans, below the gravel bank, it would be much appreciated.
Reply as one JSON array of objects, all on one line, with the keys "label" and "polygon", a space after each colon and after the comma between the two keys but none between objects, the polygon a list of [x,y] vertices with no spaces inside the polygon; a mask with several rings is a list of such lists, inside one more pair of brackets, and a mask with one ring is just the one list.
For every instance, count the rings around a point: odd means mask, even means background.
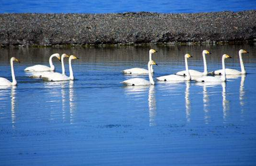
[{"label": "rippled blue water around the swans, below the gravel bank", "polygon": [[[226,67],[240,69],[237,51],[246,49],[248,74],[217,85],[123,87],[133,76],[120,71],[146,68],[150,47],[0,49],[1,77],[11,79],[10,57],[21,61],[18,86],[0,89],[0,166],[255,165],[255,46],[152,48],[154,78],[184,70],[185,53],[193,56],[189,67],[202,71],[203,49],[213,53],[209,70],[221,67],[223,53],[233,57]],[[72,61],[75,81],[28,78],[25,67],[48,65],[55,52],[80,58]]]}]

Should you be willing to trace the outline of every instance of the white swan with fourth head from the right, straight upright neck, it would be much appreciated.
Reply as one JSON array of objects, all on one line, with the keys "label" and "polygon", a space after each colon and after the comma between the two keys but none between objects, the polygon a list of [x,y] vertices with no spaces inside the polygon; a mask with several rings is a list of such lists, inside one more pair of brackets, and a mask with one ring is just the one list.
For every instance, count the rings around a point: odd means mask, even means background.
[{"label": "white swan with fourth head from the right, straight upright neck", "polygon": [[190,76],[190,73],[189,73],[189,70],[188,70],[188,65],[187,65],[187,59],[192,57],[192,56],[189,55],[189,54],[186,54],[184,57],[185,57],[186,77],[171,74],[171,75],[168,75],[168,76],[158,77],[156,79],[159,80],[159,81],[188,81],[188,80],[191,80],[191,76]]}]

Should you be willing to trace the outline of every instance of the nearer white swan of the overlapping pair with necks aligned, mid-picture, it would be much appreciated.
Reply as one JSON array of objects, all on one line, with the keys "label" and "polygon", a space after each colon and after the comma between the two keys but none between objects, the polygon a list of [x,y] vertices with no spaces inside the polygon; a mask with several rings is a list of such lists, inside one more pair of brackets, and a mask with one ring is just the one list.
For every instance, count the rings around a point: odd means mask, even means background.
[{"label": "nearer white swan of the overlapping pair with necks aligned, mid-picture", "polygon": [[149,71],[148,72],[148,77],[149,77],[149,81],[145,80],[143,78],[131,78],[131,79],[127,79],[127,80],[125,80],[123,82],[120,82],[120,83],[123,83],[126,86],[154,85],[154,80],[153,80],[152,72],[151,72],[151,66],[152,65],[157,65],[154,60],[150,60],[148,62],[148,71]]}]

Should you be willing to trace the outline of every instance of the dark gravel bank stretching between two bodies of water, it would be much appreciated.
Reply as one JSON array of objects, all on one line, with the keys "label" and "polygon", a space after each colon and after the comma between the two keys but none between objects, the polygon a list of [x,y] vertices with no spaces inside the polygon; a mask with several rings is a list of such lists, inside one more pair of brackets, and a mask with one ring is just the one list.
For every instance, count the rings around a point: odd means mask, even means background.
[{"label": "dark gravel bank stretching between two bodies of water", "polygon": [[194,14],[0,14],[0,46],[256,41],[256,10]]}]

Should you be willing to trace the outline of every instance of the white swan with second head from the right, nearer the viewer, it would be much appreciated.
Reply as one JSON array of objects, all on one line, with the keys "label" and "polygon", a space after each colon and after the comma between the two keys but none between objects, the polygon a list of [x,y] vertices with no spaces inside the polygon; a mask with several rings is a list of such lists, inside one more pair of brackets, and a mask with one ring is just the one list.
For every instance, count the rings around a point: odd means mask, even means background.
[{"label": "white swan with second head from the right, nearer the viewer", "polygon": [[[231,58],[231,57],[227,54],[224,54],[222,56],[222,69],[224,71],[225,71],[225,59],[226,58]],[[205,77],[195,79],[195,81],[197,81],[197,82],[223,82],[225,80],[226,80],[225,72],[221,77],[205,76]]]}]

